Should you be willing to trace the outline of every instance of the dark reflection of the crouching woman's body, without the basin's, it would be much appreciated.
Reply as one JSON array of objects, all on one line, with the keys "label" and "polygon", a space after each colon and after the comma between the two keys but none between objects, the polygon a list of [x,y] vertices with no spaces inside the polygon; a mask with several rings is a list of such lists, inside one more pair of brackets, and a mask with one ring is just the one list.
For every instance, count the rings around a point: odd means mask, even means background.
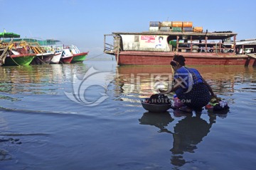
[{"label": "dark reflection of the crouching woman's body, without the basin's", "polygon": [[195,152],[196,145],[203,140],[203,137],[208,135],[215,120],[215,115],[209,115],[209,121],[203,120],[201,114],[196,114],[195,116],[189,114],[179,120],[174,126],[174,142],[173,147],[170,149],[172,153],[171,164],[183,166],[183,164],[188,163],[183,158],[184,152]]}]

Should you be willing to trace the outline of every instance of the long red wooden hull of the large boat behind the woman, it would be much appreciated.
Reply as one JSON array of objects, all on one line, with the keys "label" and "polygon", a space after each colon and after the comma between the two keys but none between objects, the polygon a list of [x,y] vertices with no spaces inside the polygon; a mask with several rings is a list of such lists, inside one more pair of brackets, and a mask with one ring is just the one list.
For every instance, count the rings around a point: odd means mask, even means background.
[{"label": "long red wooden hull of the large boat behind the woman", "polygon": [[[119,65],[169,65],[175,52],[122,51],[115,55]],[[207,55],[206,55],[207,54]],[[233,53],[178,52],[186,58],[187,65],[241,65],[256,66],[256,58]]]}]

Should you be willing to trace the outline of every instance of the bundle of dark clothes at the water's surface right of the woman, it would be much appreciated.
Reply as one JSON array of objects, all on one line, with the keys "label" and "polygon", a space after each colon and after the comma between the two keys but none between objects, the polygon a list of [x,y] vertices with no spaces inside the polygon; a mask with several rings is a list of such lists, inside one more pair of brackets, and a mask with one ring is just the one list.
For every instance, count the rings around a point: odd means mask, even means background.
[{"label": "bundle of dark clothes at the water's surface right of the woman", "polygon": [[225,111],[230,107],[226,101],[222,101],[221,98],[211,98],[208,105],[206,105],[206,109],[212,111]]}]

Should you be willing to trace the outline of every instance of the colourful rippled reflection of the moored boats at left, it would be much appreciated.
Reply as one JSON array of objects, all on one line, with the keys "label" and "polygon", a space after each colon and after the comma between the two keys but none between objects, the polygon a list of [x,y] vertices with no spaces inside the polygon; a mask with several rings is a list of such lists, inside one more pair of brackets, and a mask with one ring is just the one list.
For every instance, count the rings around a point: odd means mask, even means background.
[{"label": "colourful rippled reflection of the moored boats at left", "polygon": [[0,67],[0,92],[55,94],[62,84],[73,81],[74,74],[82,79],[87,69],[86,64],[82,63]]}]

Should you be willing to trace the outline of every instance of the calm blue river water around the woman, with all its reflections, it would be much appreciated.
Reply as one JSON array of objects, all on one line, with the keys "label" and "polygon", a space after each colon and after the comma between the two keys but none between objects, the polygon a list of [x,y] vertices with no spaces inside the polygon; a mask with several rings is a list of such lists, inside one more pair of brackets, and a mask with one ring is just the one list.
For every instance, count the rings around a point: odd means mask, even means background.
[{"label": "calm blue river water around the woman, with all its reflections", "polygon": [[229,111],[145,111],[169,66],[0,67],[0,169],[255,169],[256,68],[196,68]]}]

